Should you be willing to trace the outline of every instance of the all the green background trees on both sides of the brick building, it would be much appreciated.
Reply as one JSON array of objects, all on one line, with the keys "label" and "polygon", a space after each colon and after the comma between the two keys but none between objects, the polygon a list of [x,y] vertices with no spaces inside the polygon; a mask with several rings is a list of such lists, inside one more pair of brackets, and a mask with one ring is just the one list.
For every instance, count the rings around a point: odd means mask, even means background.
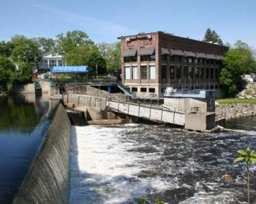
[{"label": "all the green background trees on both sides of the brick building", "polygon": [[[216,31],[207,29],[202,41],[223,45]],[[255,50],[238,40],[233,46],[226,43],[228,52],[223,57],[220,74],[221,89],[234,96],[243,82],[241,75],[256,73]],[[37,69],[42,55],[56,52],[64,56],[68,65],[88,65],[89,76],[120,70],[120,43],[95,43],[83,31],[60,33],[56,39],[27,38],[15,35],[10,41],[0,42],[0,85],[12,90],[13,84],[31,82],[31,70]]]}]

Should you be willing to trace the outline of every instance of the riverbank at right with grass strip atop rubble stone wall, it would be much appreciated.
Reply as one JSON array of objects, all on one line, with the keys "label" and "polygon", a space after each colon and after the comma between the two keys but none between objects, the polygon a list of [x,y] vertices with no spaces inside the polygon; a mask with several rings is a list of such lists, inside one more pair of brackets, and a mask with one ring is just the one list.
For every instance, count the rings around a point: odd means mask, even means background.
[{"label": "riverbank at right with grass strip atop rubble stone wall", "polygon": [[217,102],[220,105],[215,108],[216,114],[225,114],[226,119],[256,115],[255,99],[219,99]]}]

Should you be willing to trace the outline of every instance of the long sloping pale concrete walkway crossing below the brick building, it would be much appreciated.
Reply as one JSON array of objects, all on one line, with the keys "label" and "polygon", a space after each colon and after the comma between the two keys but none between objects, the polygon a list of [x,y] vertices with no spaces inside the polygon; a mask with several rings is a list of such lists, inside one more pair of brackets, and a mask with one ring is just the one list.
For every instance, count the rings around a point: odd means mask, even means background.
[{"label": "long sloping pale concrete walkway crossing below the brick building", "polygon": [[166,122],[179,126],[185,125],[185,111],[175,110],[156,103],[141,102],[135,100],[113,100],[109,98],[97,98],[81,94],[63,94],[63,102],[74,106],[87,106],[101,108],[116,113],[140,117],[155,122]]}]

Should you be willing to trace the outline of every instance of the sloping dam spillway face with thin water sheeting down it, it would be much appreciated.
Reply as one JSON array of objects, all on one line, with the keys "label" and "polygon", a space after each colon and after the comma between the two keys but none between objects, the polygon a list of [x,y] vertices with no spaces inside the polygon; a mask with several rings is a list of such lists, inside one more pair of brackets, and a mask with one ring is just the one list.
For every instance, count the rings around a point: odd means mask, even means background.
[{"label": "sloping dam spillway face with thin water sheeting down it", "polygon": [[67,204],[69,149],[70,121],[65,108],[59,104],[13,204]]}]

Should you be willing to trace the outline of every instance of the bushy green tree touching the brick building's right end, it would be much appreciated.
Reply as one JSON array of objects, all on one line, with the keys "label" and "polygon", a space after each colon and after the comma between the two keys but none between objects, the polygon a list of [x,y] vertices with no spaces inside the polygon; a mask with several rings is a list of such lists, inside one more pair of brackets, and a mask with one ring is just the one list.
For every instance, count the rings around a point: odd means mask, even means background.
[{"label": "bushy green tree touching the brick building's right end", "polygon": [[252,48],[237,41],[223,57],[220,84],[228,96],[234,96],[241,89],[241,75],[255,72],[256,63]]}]

